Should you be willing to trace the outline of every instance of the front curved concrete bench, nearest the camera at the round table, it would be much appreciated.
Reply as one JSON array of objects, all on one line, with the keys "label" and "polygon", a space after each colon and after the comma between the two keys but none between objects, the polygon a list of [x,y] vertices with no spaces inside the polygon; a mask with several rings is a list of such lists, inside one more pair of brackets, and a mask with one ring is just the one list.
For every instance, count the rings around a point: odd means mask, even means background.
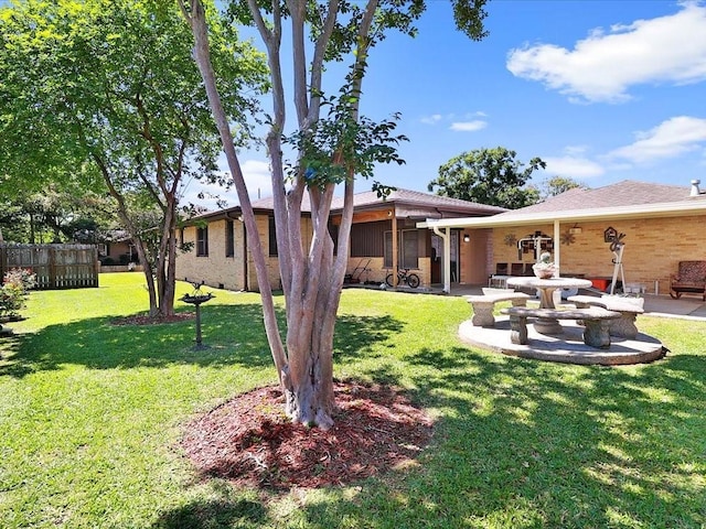
[{"label": "front curved concrete bench, nearest the camera at the round table", "polygon": [[610,347],[610,322],[620,317],[619,312],[607,311],[599,306],[574,310],[556,309],[527,309],[525,306],[511,306],[501,311],[510,315],[510,339],[513,344],[527,344],[527,317],[545,320],[581,320],[584,330],[584,343],[590,347],[607,349]]}]

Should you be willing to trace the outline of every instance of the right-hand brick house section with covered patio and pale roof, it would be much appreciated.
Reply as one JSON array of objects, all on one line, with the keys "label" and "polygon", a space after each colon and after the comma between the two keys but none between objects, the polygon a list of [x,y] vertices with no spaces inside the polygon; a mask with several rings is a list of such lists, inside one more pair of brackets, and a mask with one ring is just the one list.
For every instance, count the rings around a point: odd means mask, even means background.
[{"label": "right-hand brick house section with covered patio and pale roof", "polygon": [[498,272],[522,274],[535,262],[536,238],[541,249],[553,253],[560,276],[582,276],[605,287],[601,281],[612,277],[617,257],[609,236],[623,234],[620,262],[625,283],[665,294],[678,261],[706,260],[706,193],[698,185],[699,181],[691,188],[623,181],[569,190],[492,217],[429,219],[417,227],[460,230],[464,240],[486,241],[485,248],[469,245],[461,250],[467,266],[481,263],[482,273],[461,269],[461,281],[469,283]]}]

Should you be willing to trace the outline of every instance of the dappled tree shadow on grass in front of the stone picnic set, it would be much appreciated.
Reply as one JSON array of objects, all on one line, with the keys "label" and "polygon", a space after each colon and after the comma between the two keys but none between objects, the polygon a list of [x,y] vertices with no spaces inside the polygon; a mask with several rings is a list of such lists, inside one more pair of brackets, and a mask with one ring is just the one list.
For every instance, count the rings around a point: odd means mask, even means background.
[{"label": "dappled tree shadow on grass in front of the stone picnic set", "polygon": [[700,527],[706,520],[696,435],[706,430],[703,357],[667,357],[633,370],[464,347],[424,348],[406,359],[411,393],[442,414],[434,445],[417,468],[367,482],[355,501],[332,492],[329,501],[307,506],[311,527],[345,520],[410,529],[579,528],[618,519]]}]

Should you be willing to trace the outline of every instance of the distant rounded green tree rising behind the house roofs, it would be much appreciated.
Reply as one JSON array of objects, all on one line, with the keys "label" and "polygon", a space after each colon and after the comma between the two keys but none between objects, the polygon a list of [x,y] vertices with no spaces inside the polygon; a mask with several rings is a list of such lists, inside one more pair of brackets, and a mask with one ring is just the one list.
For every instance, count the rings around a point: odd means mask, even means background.
[{"label": "distant rounded green tree rising behind the house roofs", "polygon": [[524,166],[516,155],[504,147],[464,152],[441,165],[428,188],[436,188],[438,195],[509,209],[530,206],[539,201],[539,192],[527,181],[546,163],[533,158]]}]

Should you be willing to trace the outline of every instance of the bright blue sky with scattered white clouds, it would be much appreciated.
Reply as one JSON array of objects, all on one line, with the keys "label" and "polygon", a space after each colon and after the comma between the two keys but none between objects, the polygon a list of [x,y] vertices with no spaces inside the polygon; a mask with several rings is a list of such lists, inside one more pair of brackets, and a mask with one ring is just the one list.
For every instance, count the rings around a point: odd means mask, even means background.
[{"label": "bright blue sky with scattered white clouds", "polygon": [[[410,140],[377,180],[426,191],[449,159],[502,145],[547,162],[532,183],[706,182],[703,1],[491,0],[482,42],[456,31],[448,2],[428,4],[416,39],[371,53],[362,111],[402,112]],[[270,194],[265,153],[242,161],[252,195]]]}]

